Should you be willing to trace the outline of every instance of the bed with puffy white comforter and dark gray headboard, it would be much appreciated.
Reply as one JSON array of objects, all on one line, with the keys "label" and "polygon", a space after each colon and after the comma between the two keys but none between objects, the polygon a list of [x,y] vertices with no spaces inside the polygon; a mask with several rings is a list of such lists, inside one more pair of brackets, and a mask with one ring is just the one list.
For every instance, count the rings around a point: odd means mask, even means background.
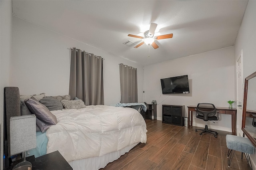
[{"label": "bed with puffy white comforter and dark gray headboard", "polygon": [[[20,105],[18,87],[5,87],[5,162],[10,160],[7,159],[8,122],[10,117],[21,115]],[[56,117],[57,123],[44,133],[37,132],[37,140],[42,141],[47,136],[48,141],[44,142],[47,143],[46,153],[58,150],[74,170],[104,168],[108,162],[118,159],[138,143],[146,143],[146,123],[142,115],[132,108],[96,105],[50,113]],[[41,146],[37,149],[44,150]]]}]

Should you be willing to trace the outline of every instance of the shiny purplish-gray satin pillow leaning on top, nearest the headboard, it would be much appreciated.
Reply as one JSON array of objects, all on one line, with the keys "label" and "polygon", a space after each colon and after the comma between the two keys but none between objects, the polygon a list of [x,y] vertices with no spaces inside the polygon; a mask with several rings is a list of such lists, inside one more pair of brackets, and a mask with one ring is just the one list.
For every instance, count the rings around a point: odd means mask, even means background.
[{"label": "shiny purplish-gray satin pillow leaning on top, nearest the headboard", "polygon": [[46,106],[41,104],[34,97],[31,97],[24,102],[26,103],[30,112],[36,115],[40,121],[49,125],[56,125],[57,118],[49,111],[49,109],[47,109]]}]

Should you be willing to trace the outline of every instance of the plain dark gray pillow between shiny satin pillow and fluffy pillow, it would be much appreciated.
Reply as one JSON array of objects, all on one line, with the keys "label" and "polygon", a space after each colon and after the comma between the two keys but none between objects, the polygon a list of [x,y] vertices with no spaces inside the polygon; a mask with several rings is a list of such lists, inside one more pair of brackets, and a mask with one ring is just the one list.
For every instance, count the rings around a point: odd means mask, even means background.
[{"label": "plain dark gray pillow between shiny satin pillow and fluffy pillow", "polygon": [[45,105],[49,109],[49,111],[56,111],[56,110],[63,109],[62,103],[54,97],[44,97],[39,102]]}]

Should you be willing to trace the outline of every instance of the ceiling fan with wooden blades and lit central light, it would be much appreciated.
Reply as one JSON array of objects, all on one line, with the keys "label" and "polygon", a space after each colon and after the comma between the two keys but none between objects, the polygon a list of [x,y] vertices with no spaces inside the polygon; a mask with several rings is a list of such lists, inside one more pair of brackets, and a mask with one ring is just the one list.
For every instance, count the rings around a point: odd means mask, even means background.
[{"label": "ceiling fan with wooden blades and lit central light", "polygon": [[152,47],[154,49],[157,49],[159,46],[154,42],[155,40],[162,40],[162,39],[166,39],[166,38],[172,38],[172,34],[165,34],[165,35],[162,35],[162,36],[154,36],[156,26],[157,26],[157,24],[152,22],[150,24],[149,30],[144,32],[144,37],[128,34],[129,37],[144,39],[144,41],[142,43],[139,43],[134,48],[138,48],[140,45],[146,43],[147,45],[152,45]]}]

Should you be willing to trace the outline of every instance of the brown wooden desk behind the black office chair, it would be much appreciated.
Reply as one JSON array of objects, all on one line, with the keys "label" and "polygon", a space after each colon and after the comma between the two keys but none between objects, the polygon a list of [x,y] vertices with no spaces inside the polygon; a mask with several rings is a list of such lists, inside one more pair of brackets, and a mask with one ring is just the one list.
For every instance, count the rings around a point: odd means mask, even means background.
[{"label": "brown wooden desk behind the black office chair", "polygon": [[[236,135],[236,108],[216,107],[216,109],[219,114],[231,115],[232,134]],[[193,123],[193,111],[196,111],[196,106],[188,106],[188,128],[190,128],[190,126],[192,126]]]}]

